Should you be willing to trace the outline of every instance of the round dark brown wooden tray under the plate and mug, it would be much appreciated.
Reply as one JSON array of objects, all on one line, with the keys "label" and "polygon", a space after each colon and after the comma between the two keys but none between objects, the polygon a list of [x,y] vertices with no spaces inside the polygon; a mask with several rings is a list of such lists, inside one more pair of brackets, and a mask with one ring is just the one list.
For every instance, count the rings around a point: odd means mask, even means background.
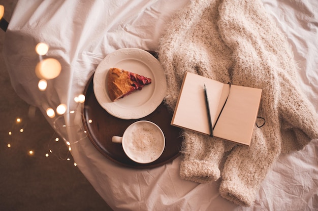
[{"label": "round dark brown wooden tray under the plate and mug", "polygon": [[[146,117],[126,120],[110,115],[100,106],[93,92],[93,76],[85,87],[84,95],[86,97],[82,106],[84,128],[91,143],[108,159],[126,167],[152,168],[168,163],[180,155],[181,129],[170,125],[172,113],[164,103],[161,103],[154,112]],[[125,129],[138,120],[149,120],[156,123],[165,134],[165,150],[162,156],[154,162],[147,164],[134,162],[126,156],[121,144],[111,141],[113,136],[122,136]]]}]

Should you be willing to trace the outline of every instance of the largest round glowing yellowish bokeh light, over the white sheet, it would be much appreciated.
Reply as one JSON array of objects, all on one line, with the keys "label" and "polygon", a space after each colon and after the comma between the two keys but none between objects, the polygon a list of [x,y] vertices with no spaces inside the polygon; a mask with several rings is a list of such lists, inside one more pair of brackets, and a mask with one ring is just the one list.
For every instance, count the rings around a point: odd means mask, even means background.
[{"label": "largest round glowing yellowish bokeh light, over the white sheet", "polygon": [[48,58],[40,61],[36,66],[36,75],[40,79],[53,79],[59,75],[62,66],[56,59]]}]

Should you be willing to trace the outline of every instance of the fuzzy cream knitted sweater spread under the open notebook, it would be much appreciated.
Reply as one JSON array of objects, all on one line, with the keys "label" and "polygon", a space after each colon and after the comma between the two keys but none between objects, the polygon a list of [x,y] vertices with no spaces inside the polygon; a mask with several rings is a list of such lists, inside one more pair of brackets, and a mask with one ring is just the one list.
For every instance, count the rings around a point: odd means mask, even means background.
[{"label": "fuzzy cream knitted sweater spread under the open notebook", "polygon": [[[259,116],[266,124],[255,127],[251,146],[184,131],[181,178],[221,178],[222,197],[250,206],[279,154],[318,138],[318,117],[297,84],[292,51],[260,0],[190,1],[168,26],[159,58],[171,110],[186,71],[263,89]],[[228,156],[220,170],[224,154]]]}]

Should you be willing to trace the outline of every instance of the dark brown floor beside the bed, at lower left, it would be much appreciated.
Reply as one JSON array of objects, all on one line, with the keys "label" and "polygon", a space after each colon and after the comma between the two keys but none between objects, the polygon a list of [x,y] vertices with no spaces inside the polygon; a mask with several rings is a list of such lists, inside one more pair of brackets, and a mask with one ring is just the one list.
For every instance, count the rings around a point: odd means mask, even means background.
[{"label": "dark brown floor beside the bed, at lower left", "polygon": [[[9,22],[16,3],[0,0]],[[58,136],[40,111],[12,89],[4,41],[0,29],[0,210],[112,210],[74,165],[66,145],[55,141]]]}]

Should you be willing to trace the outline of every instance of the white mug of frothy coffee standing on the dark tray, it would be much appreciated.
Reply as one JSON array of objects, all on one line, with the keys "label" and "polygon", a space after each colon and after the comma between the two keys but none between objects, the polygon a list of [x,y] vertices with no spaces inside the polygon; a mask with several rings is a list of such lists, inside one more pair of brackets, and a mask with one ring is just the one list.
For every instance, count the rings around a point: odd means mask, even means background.
[{"label": "white mug of frothy coffee standing on the dark tray", "polygon": [[165,149],[165,135],[158,125],[141,120],[126,128],[122,137],[113,136],[112,142],[121,143],[123,151],[138,163],[150,163],[158,159]]}]

